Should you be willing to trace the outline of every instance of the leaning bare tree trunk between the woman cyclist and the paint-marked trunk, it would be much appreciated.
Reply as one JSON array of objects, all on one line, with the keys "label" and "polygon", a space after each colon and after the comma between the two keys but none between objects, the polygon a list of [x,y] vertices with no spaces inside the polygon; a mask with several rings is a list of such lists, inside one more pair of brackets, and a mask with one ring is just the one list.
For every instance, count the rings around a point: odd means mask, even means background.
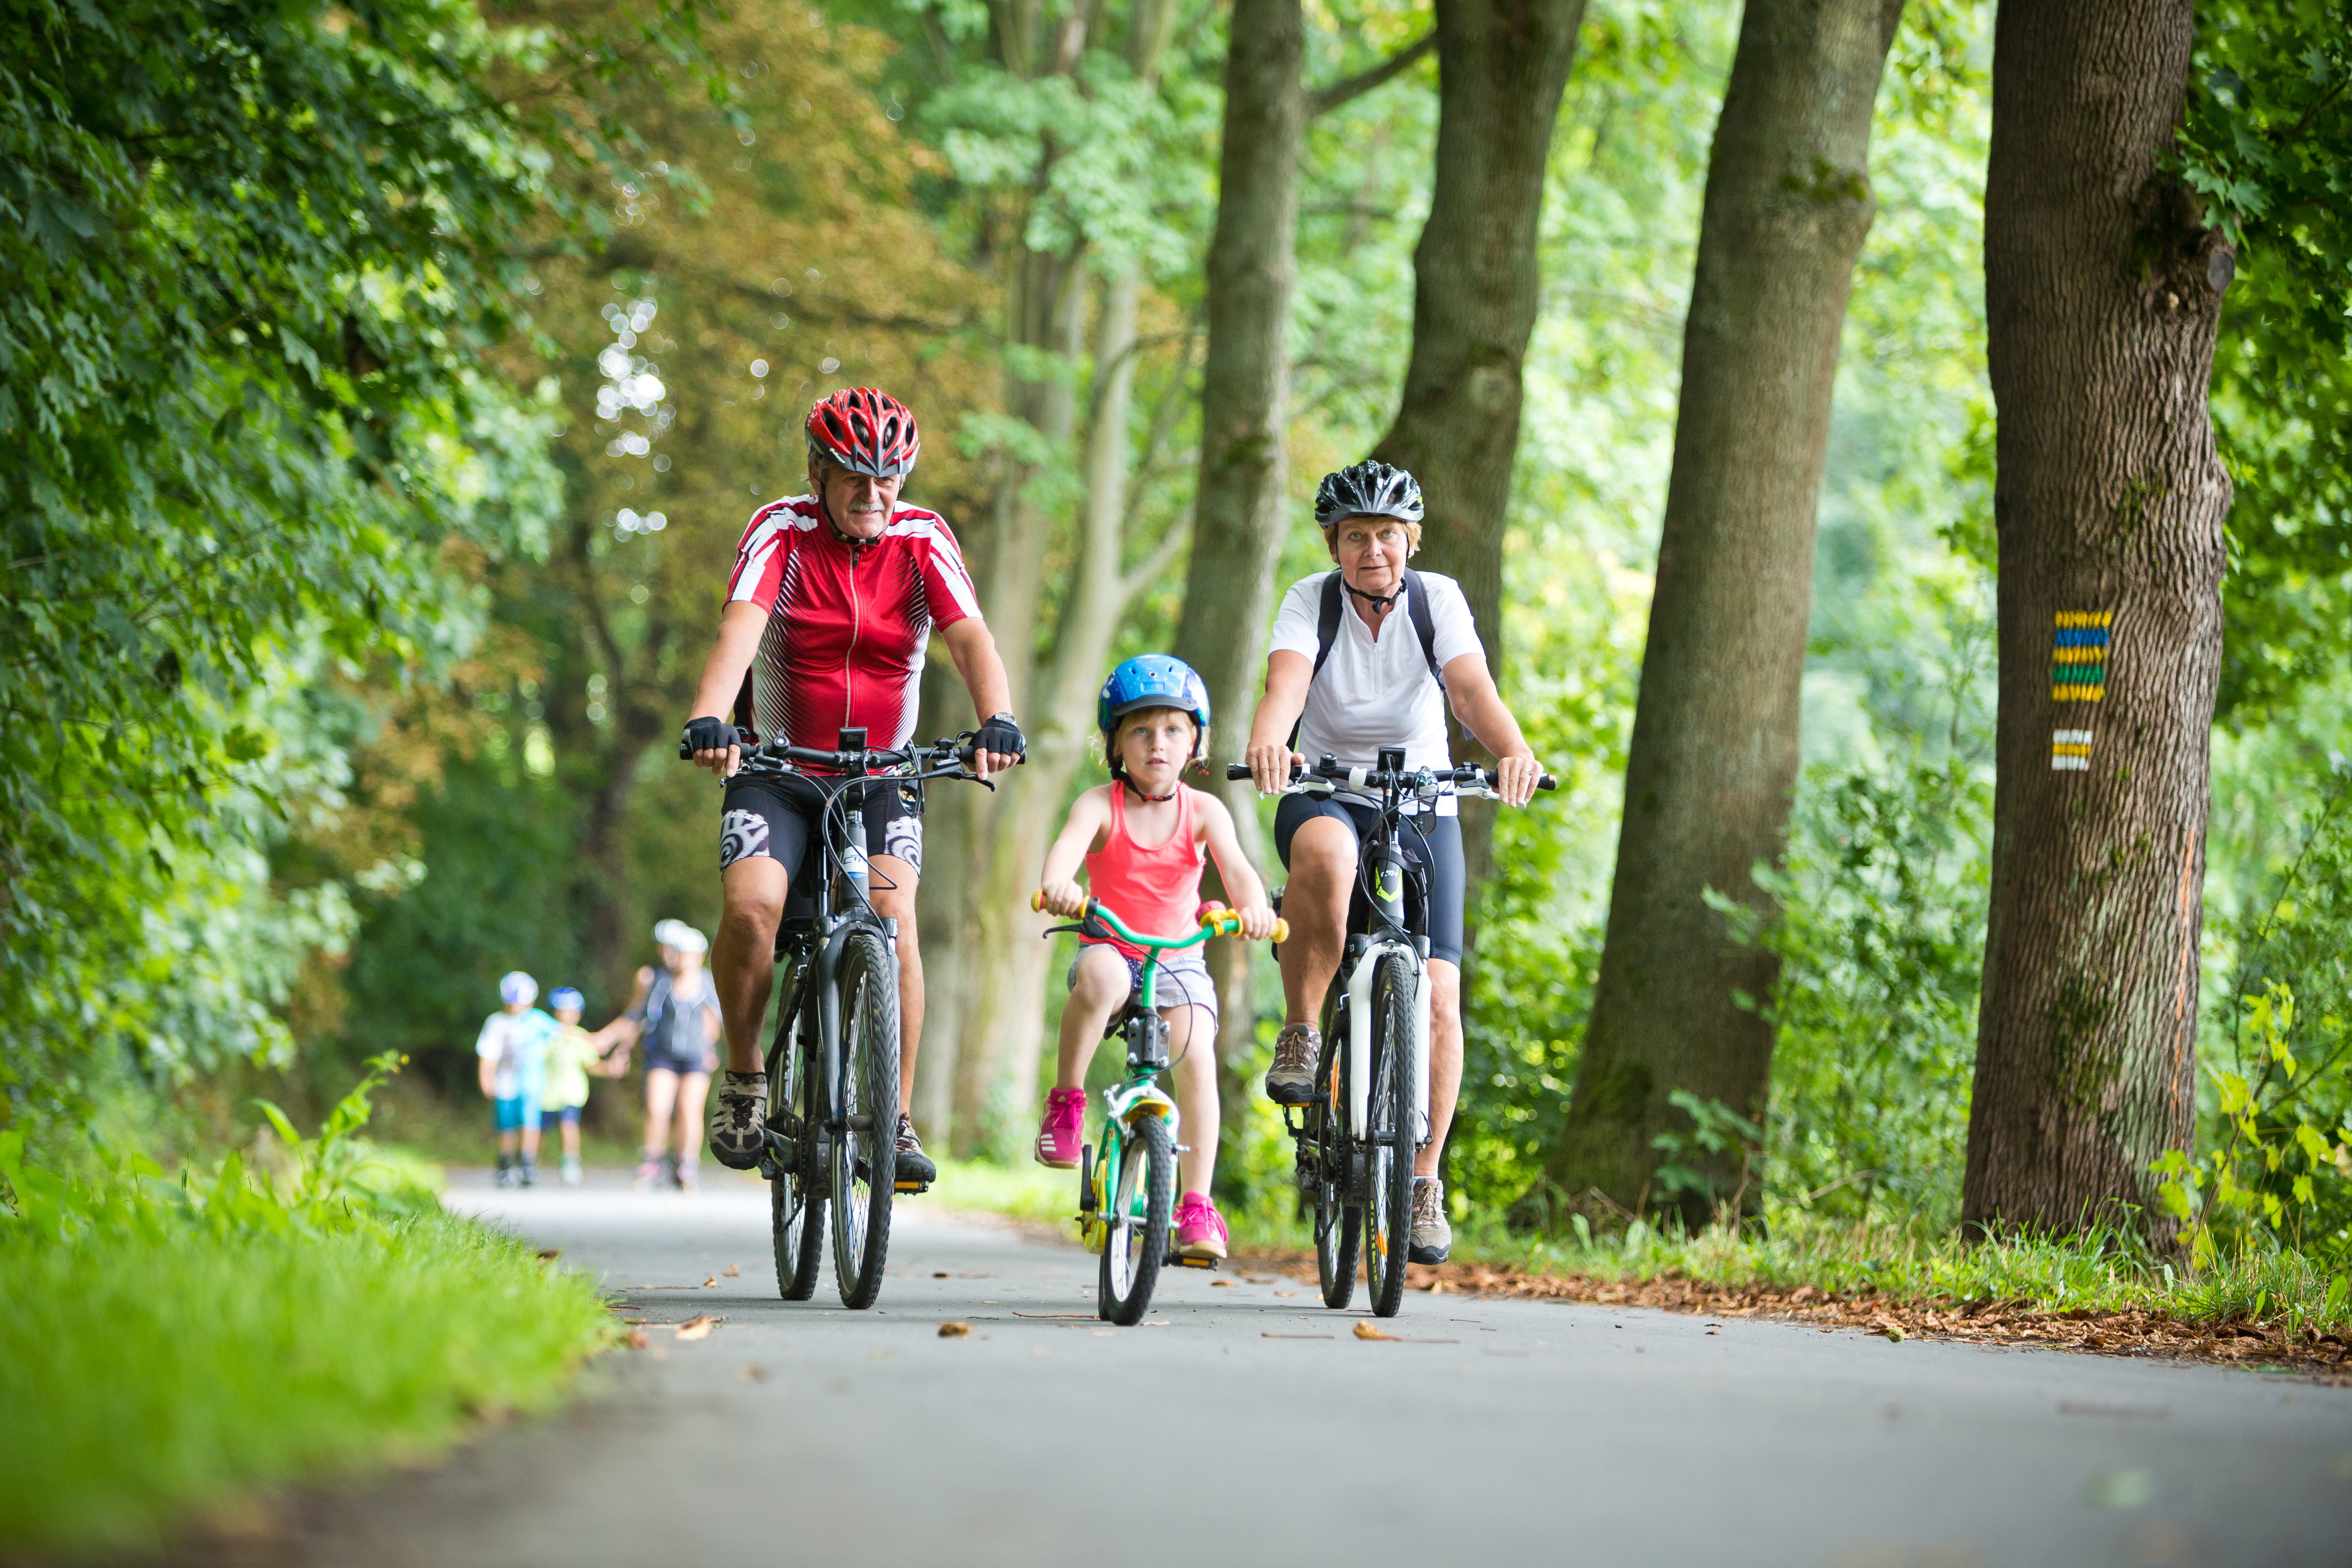
[{"label": "leaning bare tree trunk between the woman cyclist and the paint-marked trunk", "polygon": [[1661,1194],[1653,1138],[1691,1128],[1677,1091],[1764,1114],[1773,1034],[1736,997],[1764,999],[1778,964],[1703,896],[1769,907],[1752,867],[1788,837],[1837,339],[1877,209],[1870,110],[1900,14],[1748,0],[1708,167],[1609,933],[1548,1164],[1562,1194],[1670,1201],[1693,1225],[1745,1161],[1689,1150],[1677,1164],[1708,1190]]}]

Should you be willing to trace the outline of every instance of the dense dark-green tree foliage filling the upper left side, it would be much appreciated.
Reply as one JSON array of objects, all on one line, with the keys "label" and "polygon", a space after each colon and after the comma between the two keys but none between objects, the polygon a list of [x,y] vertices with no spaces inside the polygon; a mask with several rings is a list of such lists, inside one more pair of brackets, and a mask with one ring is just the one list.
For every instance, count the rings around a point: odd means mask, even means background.
[{"label": "dense dark-green tree foliage filling the upper left side", "polygon": [[[553,421],[480,360],[517,235],[595,216],[550,169],[691,33],[35,0],[0,40],[0,1121],[282,1053],[285,971],[348,929],[259,872],[355,738],[301,686],[433,675],[477,614],[447,543],[543,545]],[[586,113],[496,96],[517,61]]]}]

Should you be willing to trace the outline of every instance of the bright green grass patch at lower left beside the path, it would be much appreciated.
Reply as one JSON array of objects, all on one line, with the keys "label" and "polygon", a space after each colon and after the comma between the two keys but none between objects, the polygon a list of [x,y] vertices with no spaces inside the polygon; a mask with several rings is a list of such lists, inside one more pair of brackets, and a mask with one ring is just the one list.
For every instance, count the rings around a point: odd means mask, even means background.
[{"label": "bright green grass patch at lower left beside the path", "polygon": [[153,1544],[235,1488],[428,1453],[548,1403],[612,1326],[597,1288],[440,1213],[353,1133],[379,1058],[299,1168],[94,1180],[0,1133],[0,1542]]}]

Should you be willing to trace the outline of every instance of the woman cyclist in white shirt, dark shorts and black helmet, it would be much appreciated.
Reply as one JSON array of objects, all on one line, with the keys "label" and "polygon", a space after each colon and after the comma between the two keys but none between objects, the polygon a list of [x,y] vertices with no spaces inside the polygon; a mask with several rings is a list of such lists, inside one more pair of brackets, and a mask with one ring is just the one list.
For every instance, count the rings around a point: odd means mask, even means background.
[{"label": "woman cyclist in white shirt, dark shorts and black helmet", "polygon": [[[1409,769],[1446,769],[1451,701],[1463,729],[1496,755],[1496,790],[1524,806],[1543,764],[1494,686],[1470,602],[1454,578],[1406,567],[1421,548],[1421,484],[1378,461],[1343,468],[1324,475],[1315,522],[1336,569],[1296,583],[1275,614],[1265,698],[1249,726],[1258,790],[1282,790],[1303,757],[1376,766],[1383,745],[1402,745]],[[1291,872],[1284,1023],[1265,1074],[1265,1095],[1279,1105],[1315,1098],[1322,1034],[1312,1020],[1338,971],[1357,846],[1371,823],[1369,804],[1336,795],[1287,795],[1275,811],[1275,851]],[[1463,1077],[1463,835],[1451,792],[1416,827],[1404,849],[1421,860],[1430,900],[1430,1145],[1414,1159],[1409,1258],[1444,1262],[1454,1229],[1437,1159]]]}]

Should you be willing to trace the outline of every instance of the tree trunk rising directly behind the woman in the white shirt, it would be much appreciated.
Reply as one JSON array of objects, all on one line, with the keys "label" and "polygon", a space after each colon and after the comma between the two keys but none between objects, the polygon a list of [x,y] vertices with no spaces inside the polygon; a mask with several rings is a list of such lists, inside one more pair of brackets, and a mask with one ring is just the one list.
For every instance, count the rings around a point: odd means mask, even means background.
[{"label": "tree trunk rising directly behind the woman in the white shirt", "polygon": [[[1414,357],[1374,449],[1421,480],[1428,520],[1414,564],[1461,581],[1498,670],[1543,167],[1583,19],[1585,0],[1437,0],[1437,183],[1414,247]],[[1482,806],[1463,811],[1463,844],[1475,907],[1494,846]]]}]

